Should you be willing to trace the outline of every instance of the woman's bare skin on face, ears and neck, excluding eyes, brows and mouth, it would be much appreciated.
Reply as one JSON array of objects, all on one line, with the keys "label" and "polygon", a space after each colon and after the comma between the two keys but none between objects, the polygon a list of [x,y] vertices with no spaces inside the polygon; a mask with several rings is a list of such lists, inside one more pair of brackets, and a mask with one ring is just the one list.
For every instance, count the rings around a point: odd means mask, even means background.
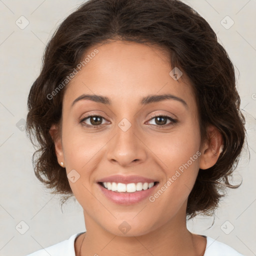
[{"label": "woman's bare skin on face, ears and neck, excluding eyes, brows and mouth", "polygon": [[[172,67],[164,49],[118,40],[96,48],[99,52],[66,88],[61,135],[55,136],[56,125],[50,129],[58,162],[64,163],[67,174],[75,169],[80,175],[74,183],[68,180],[83,208],[86,226],[86,233],[75,240],[76,255],[202,256],[206,239],[187,230],[185,210],[199,168],[207,169],[217,161],[220,133],[209,126],[211,139],[201,142],[192,87],[184,72],[178,80],[169,75]],[[71,107],[83,93],[107,96],[112,104],[83,99]],[[187,107],[174,99],[139,103],[141,97],[164,93],[182,98]],[[91,113],[103,117],[101,127],[78,123]],[[152,114],[178,121],[167,126],[170,120],[165,119],[161,128]],[[118,126],[123,118],[131,124],[126,131]],[[94,124],[89,118],[84,123]],[[154,202],[146,198],[133,205],[118,205],[95,183],[112,174],[135,174],[158,180],[161,187],[197,151],[201,155]],[[118,228],[123,221],[131,227],[125,234]]]}]

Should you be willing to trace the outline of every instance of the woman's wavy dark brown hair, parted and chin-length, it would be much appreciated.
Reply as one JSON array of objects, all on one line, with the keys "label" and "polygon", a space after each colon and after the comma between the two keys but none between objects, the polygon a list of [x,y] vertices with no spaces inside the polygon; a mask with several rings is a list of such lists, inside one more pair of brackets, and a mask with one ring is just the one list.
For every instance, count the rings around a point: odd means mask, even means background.
[{"label": "woman's wavy dark brown hair, parted and chin-length", "polygon": [[179,0],[89,0],[59,25],[28,95],[26,132],[38,147],[32,159],[36,177],[53,188],[52,193],[62,194],[62,203],[72,195],[49,134],[52,124],[60,125],[68,85],[61,86],[54,96],[52,92],[77,69],[88,47],[110,39],[167,49],[171,66],[185,72],[195,92],[201,141],[208,139],[208,124],[222,134],[223,152],[207,171],[199,169],[186,209],[189,218],[198,213],[211,215],[224,195],[220,191],[239,186],[231,185],[228,176],[238,163],[245,139],[244,117],[239,110],[234,68],[225,49],[205,19]]}]

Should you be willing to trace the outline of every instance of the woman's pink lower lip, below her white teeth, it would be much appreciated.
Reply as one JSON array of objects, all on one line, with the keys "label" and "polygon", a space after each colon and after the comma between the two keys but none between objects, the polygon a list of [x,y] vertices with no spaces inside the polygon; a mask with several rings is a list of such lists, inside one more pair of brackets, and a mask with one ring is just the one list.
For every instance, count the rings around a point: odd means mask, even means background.
[{"label": "woman's pink lower lip, below her white teeth", "polygon": [[149,197],[149,195],[152,194],[152,191],[158,184],[159,183],[156,183],[154,186],[146,190],[129,193],[129,192],[114,192],[112,190],[108,190],[107,188],[104,188],[99,183],[97,183],[97,185],[99,186],[103,194],[109,200],[122,205],[130,205],[130,204],[137,203],[144,200],[146,197]]}]

